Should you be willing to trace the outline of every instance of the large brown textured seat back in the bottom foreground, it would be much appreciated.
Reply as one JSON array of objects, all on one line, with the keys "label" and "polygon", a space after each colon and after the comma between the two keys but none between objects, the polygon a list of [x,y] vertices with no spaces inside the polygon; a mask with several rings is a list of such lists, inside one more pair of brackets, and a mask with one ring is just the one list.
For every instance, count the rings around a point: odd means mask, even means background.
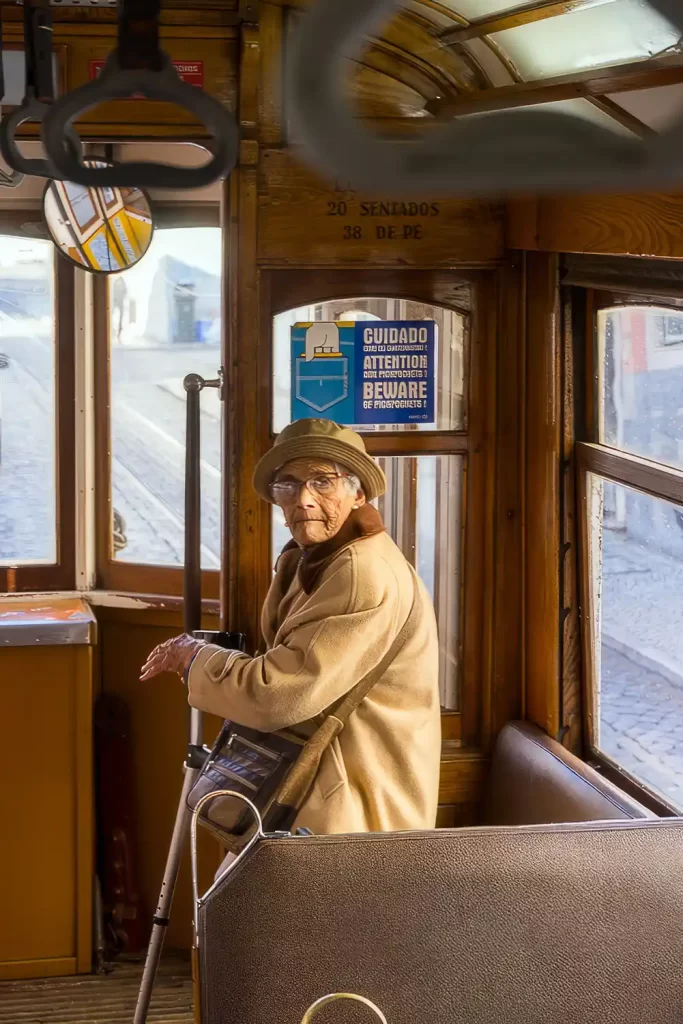
[{"label": "large brown textured seat back in the bottom foreground", "polygon": [[265,840],[200,911],[202,1021],[680,1024],[682,867],[683,819]]}]

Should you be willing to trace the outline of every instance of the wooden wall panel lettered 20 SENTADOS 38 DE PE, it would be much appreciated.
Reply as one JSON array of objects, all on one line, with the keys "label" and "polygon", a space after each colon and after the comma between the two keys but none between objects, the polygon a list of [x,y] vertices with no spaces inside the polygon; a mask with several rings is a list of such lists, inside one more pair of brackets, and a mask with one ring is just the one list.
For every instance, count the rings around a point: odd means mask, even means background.
[{"label": "wooden wall panel lettered 20 SENTADOS 38 DE PE", "polygon": [[293,150],[262,153],[258,228],[259,263],[269,266],[481,266],[504,252],[496,204],[330,188]]}]

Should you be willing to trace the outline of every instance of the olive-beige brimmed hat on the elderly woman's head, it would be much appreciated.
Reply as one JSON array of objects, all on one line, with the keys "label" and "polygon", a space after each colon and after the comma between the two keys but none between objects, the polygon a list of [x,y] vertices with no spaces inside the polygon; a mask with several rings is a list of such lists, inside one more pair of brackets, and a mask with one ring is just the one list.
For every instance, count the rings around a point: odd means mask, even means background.
[{"label": "olive-beige brimmed hat on the elderly woman's head", "polygon": [[254,473],[254,487],[272,502],[270,484],[285,463],[292,459],[323,459],[339,463],[358,477],[368,501],[379,498],[387,487],[384,473],[366,451],[362,437],[331,420],[297,420],[278,435]]}]

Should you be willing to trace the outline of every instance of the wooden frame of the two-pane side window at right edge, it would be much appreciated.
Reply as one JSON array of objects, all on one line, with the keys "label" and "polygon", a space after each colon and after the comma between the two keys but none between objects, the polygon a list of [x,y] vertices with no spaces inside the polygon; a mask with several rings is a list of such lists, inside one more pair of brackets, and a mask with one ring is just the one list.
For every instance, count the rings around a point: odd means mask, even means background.
[{"label": "wooden frame of the two-pane side window at right edge", "polygon": [[[633,282],[630,282],[633,287]],[[652,306],[681,311],[683,286],[680,290],[670,285],[671,291],[665,296],[647,295],[647,281],[643,281],[642,291],[599,291],[587,287],[583,292],[586,308],[586,409],[584,417],[585,440],[575,445],[578,474],[577,500],[580,521],[580,583],[582,603],[582,646],[584,660],[583,727],[585,746],[589,762],[605,777],[629,793],[655,814],[663,817],[678,816],[680,809],[669,804],[664,797],[642,779],[637,778],[627,768],[612,760],[597,744],[596,725],[599,714],[599,692],[597,674],[597,651],[595,644],[595,601],[592,586],[590,557],[590,494],[588,480],[591,475],[622,484],[652,498],[683,505],[683,470],[664,463],[657,463],[642,456],[612,447],[599,439],[599,371],[600,351],[598,313],[604,309],[620,306]]]}]

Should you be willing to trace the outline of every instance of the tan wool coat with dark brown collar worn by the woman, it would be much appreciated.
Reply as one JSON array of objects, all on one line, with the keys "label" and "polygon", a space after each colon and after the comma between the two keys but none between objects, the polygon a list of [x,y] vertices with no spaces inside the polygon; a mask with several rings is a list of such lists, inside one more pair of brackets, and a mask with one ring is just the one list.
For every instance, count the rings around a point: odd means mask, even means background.
[{"label": "tan wool coat with dark brown collar worn by the woman", "polygon": [[250,657],[209,645],[188,675],[194,708],[262,732],[308,735],[389,650],[410,614],[416,582],[412,635],[324,754],[300,811],[296,824],[316,835],[433,828],[436,821],[434,611],[401,552],[377,528],[378,514],[366,508],[308,564],[298,549],[285,550],[263,608],[263,653]]}]

